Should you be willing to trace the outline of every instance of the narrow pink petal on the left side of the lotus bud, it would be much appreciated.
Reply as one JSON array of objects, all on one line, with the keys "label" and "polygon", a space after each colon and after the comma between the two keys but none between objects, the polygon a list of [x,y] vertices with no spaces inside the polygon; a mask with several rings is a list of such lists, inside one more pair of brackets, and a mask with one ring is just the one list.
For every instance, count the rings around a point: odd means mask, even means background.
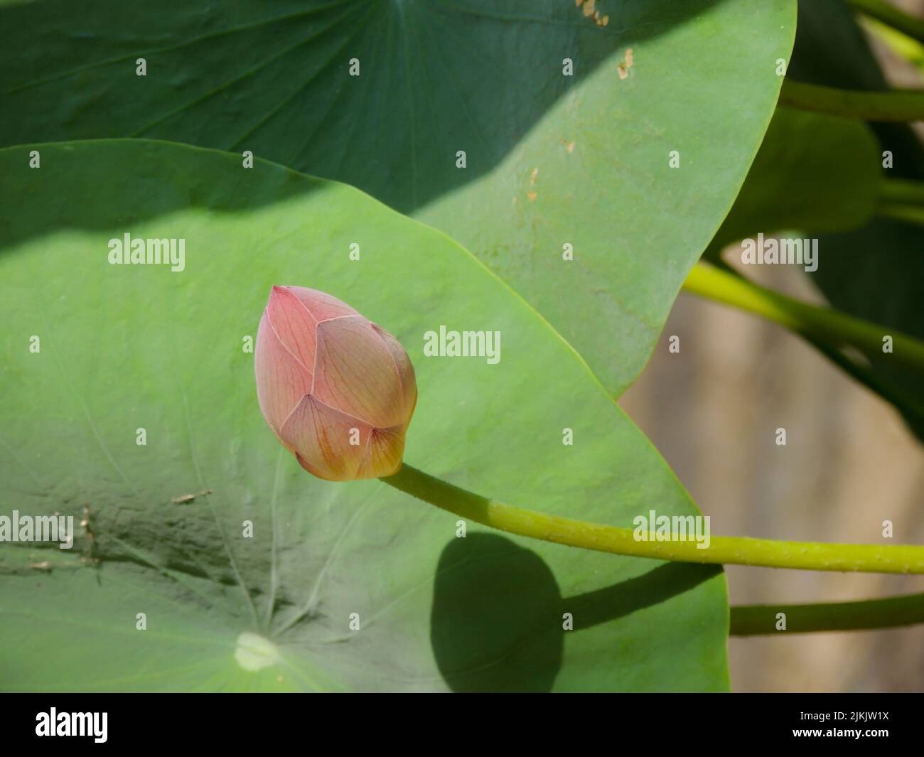
[{"label": "narrow pink petal on the left side of the lotus bud", "polygon": [[311,391],[311,373],[283,347],[265,311],[257,329],[253,364],[263,418],[279,436],[283,421]]}]

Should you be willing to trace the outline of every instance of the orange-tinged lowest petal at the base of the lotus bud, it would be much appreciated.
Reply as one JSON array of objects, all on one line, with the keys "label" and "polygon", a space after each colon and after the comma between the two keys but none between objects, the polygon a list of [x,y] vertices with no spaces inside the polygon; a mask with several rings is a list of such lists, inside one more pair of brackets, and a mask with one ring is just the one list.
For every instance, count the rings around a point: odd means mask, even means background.
[{"label": "orange-tinged lowest petal at the base of the lotus bud", "polygon": [[352,481],[371,431],[367,423],[308,395],[286,419],[280,438],[310,473],[328,481]]}]

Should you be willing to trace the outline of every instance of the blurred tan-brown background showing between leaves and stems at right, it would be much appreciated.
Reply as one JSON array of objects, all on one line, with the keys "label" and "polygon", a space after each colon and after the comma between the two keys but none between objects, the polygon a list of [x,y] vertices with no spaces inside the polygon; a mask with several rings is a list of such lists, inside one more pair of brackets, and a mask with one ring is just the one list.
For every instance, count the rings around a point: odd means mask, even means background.
[{"label": "blurred tan-brown background showing between leaves and stems at right", "polygon": [[[924,17],[924,0],[894,5]],[[920,87],[915,67],[869,38],[894,86]],[[724,259],[742,270],[730,252]],[[826,304],[796,267],[742,273]],[[668,351],[673,335],[677,354]],[[780,326],[682,293],[620,405],[711,516],[714,534],[882,543],[888,519],[892,543],[924,543],[924,449],[891,405]],[[775,444],[779,427],[786,446]],[[726,573],[732,604],[924,592],[924,576],[737,566]],[[732,637],[729,656],[736,691],[924,690],[924,626]]]}]

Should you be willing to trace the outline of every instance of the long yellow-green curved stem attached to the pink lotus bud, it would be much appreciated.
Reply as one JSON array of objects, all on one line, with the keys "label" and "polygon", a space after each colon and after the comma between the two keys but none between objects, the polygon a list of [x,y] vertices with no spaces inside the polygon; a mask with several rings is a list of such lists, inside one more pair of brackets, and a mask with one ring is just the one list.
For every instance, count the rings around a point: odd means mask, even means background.
[{"label": "long yellow-green curved stem attached to the pink lotus bud", "polygon": [[693,541],[642,542],[636,541],[634,529],[505,505],[434,478],[407,463],[394,475],[381,480],[423,502],[483,526],[613,555],[765,568],[924,573],[924,547],[921,546],[777,542],[728,536],[712,536],[705,549],[700,549]]}]

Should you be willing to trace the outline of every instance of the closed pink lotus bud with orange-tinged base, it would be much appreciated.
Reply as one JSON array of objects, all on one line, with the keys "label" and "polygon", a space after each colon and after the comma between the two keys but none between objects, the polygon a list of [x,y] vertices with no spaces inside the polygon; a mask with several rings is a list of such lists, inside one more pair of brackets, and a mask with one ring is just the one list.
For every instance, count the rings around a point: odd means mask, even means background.
[{"label": "closed pink lotus bud with orange-tinged base", "polygon": [[383,328],[316,289],[273,287],[254,364],[263,418],[302,468],[353,481],[401,467],[417,382]]}]

